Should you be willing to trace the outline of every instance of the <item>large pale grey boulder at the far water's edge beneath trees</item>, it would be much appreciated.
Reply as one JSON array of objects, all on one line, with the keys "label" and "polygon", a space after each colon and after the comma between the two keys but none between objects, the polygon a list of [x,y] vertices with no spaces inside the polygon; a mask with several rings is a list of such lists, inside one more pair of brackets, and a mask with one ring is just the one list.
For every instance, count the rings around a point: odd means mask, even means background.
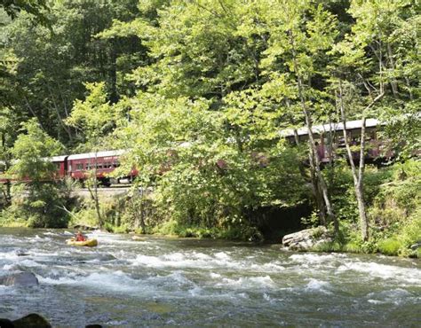
[{"label": "large pale grey boulder at the far water's edge beneath trees", "polygon": [[282,238],[282,245],[292,251],[311,251],[315,246],[331,241],[328,230],[320,226],[285,235]]}]

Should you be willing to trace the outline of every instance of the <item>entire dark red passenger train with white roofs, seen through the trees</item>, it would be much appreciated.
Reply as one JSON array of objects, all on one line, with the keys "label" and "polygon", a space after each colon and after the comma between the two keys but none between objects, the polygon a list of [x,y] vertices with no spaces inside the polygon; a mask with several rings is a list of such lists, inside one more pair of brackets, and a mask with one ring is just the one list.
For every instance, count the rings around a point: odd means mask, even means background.
[{"label": "entire dark red passenger train with white roofs, seen through the trees", "polygon": [[[377,129],[385,124],[377,121],[377,119],[368,119],[366,121],[366,139],[367,139],[367,159],[368,160],[384,160],[393,157],[393,152],[388,151],[385,143],[377,138]],[[336,160],[340,156],[345,156],[345,140],[343,137],[344,125],[341,122],[314,125],[314,137],[317,140],[317,154],[322,163]],[[349,142],[352,145],[358,145],[361,137],[361,120],[347,121],[346,130],[348,131]],[[296,138],[300,143],[305,143],[308,140],[308,131],[306,128],[283,129],[280,131],[280,137],[285,138],[290,144],[296,143]],[[329,142],[329,138],[333,137],[333,142]],[[185,142],[181,146],[187,146],[189,143]],[[330,146],[333,149],[330,149]],[[341,151],[342,149],[342,151]],[[138,176],[138,171],[135,168],[131,169],[128,175],[122,177],[110,177],[109,174],[120,166],[119,159],[125,150],[104,151],[104,152],[86,152],[72,155],[54,156],[51,160],[57,167],[55,174],[56,179],[64,179],[71,177],[81,183],[84,183],[90,176],[89,171],[96,167],[96,175],[100,184],[110,186],[111,184],[130,184],[133,179]],[[333,158],[331,158],[333,156]],[[358,160],[360,152],[353,152],[354,160]],[[266,156],[262,162],[262,167],[266,166]],[[260,161],[262,161],[260,159]],[[218,168],[226,169],[224,160],[218,160],[216,163]],[[165,169],[162,170],[162,173]],[[0,184],[11,182],[2,178],[2,163],[0,162]]]}]

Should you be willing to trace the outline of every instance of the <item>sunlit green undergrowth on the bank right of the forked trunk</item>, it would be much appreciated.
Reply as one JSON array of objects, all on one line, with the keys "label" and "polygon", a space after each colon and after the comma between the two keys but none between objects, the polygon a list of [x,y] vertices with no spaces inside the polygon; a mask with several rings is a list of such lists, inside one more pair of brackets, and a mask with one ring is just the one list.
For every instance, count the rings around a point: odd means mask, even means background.
[{"label": "sunlit green undergrowth on the bank right of the forked trunk", "polygon": [[[363,242],[353,226],[356,220],[344,217],[341,229],[346,252],[417,257],[410,246],[417,245],[421,236],[419,165],[417,160],[408,160],[388,168],[369,169],[366,195],[371,238]],[[344,199],[342,204],[349,202],[346,195]]]}]

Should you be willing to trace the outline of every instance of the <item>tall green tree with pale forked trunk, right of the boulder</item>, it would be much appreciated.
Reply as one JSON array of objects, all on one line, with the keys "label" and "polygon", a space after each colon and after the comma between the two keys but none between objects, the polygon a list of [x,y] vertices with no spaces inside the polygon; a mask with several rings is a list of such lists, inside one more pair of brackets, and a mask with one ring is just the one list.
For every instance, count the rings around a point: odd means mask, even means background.
[{"label": "tall green tree with pale forked trunk, right of the boulder", "polygon": [[355,24],[345,40],[335,46],[338,58],[331,62],[332,88],[336,90],[344,126],[349,116],[361,118],[358,166],[354,164],[346,129],[343,133],[353,173],[363,240],[369,238],[363,189],[367,154],[366,119],[370,116],[385,118],[393,108],[393,116],[398,121],[405,121],[405,116],[413,112],[413,105],[419,101],[414,98],[417,83],[413,79],[414,74],[404,74],[411,72],[414,63],[417,63],[417,60],[407,60],[417,43],[417,34],[413,33],[409,24],[414,21],[415,12],[408,9],[408,4],[406,1],[353,1],[349,12]]}]

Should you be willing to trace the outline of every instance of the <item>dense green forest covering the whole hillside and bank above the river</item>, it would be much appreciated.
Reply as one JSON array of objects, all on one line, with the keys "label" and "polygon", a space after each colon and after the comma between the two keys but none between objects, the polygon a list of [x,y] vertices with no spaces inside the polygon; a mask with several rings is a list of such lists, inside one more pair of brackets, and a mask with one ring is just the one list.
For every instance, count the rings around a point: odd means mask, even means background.
[{"label": "dense green forest covering the whole hillside and bank above the river", "polygon": [[[420,24],[417,0],[2,2],[0,165],[20,183],[0,184],[0,226],[279,241],[323,225],[322,251],[420,257]],[[312,128],[356,120],[358,144],[330,131],[345,144],[322,162]],[[119,149],[113,175],[139,171],[123,198],[101,201],[95,172],[90,199],[48,178],[46,158]]]}]

